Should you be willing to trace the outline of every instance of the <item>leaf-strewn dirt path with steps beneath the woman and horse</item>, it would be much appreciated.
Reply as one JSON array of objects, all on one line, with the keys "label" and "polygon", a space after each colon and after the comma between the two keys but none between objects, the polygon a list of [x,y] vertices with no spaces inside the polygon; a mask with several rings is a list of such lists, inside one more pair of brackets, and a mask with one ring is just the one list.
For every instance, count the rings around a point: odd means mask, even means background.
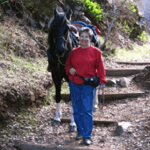
[{"label": "leaf-strewn dirt path with steps beneath the woman and horse", "polygon": [[[109,65],[110,66],[110,65]],[[131,65],[114,63],[114,68],[137,68],[145,67],[144,65]],[[107,67],[107,66],[106,66]],[[113,68],[112,68],[113,69]],[[131,81],[132,76],[127,76]],[[121,77],[108,77],[109,79],[118,79]],[[131,83],[131,82],[130,82]],[[134,84],[129,84],[127,87],[106,87],[105,93],[120,93],[120,92],[136,92],[143,91]],[[63,116],[69,117],[70,106],[62,103]],[[117,124],[106,125],[104,123],[94,125],[92,134],[92,145],[87,147],[83,145],[82,140],[76,141],[74,137],[76,133],[69,133],[69,123],[60,123],[59,126],[52,126],[51,118],[54,116],[54,105],[44,106],[40,109],[35,109],[36,126],[33,128],[28,125],[30,132],[26,133],[23,125],[15,131],[15,126],[19,122],[10,123],[5,130],[13,128],[11,136],[5,134],[3,130],[0,138],[3,138],[3,145],[0,150],[16,150],[14,145],[19,150],[149,150],[150,149],[150,94],[145,93],[139,97],[125,97],[123,99],[113,99],[105,103],[103,112],[97,110],[94,113],[94,119],[114,120],[117,123],[129,125],[126,129],[118,130]],[[21,122],[22,123],[22,122]],[[31,122],[30,122],[31,123]],[[19,131],[18,131],[19,130]],[[17,134],[23,132],[23,134]]]}]

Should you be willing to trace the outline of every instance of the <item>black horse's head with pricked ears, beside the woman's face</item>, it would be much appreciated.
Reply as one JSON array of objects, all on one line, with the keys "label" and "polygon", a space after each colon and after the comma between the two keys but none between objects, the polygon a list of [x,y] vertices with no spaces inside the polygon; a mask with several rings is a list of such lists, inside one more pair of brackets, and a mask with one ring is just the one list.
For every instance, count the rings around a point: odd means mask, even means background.
[{"label": "black horse's head with pricked ears, beside the woman's face", "polygon": [[65,54],[66,42],[68,38],[68,31],[75,30],[73,25],[69,24],[69,20],[71,18],[72,11],[69,9],[67,13],[58,13],[56,9],[54,9],[54,19],[51,23],[53,40],[55,45],[55,54],[57,57],[63,57]]}]

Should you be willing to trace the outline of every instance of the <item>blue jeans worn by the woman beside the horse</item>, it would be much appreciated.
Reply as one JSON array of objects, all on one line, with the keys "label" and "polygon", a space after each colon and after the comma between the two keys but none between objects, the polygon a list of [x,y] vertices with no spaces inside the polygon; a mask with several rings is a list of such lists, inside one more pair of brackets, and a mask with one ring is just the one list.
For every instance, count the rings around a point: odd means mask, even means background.
[{"label": "blue jeans worn by the woman beside the horse", "polygon": [[77,125],[77,133],[83,138],[91,138],[93,130],[93,100],[95,88],[89,85],[69,82],[73,115]]}]

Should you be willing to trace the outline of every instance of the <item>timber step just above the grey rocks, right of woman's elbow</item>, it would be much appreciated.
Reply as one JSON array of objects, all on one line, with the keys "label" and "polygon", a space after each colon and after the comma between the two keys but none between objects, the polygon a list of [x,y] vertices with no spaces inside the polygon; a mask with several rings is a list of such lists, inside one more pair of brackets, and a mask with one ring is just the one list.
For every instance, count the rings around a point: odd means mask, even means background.
[{"label": "timber step just above the grey rocks, right of woman's elbow", "polygon": [[142,72],[143,68],[141,69],[106,69],[106,76],[131,76]]}]

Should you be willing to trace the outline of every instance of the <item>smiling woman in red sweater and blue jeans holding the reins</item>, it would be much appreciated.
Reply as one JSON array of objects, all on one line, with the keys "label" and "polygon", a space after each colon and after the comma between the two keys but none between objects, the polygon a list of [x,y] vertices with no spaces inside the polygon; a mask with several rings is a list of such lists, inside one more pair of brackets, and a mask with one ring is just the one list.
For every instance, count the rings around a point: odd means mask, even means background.
[{"label": "smiling woman in red sweater and blue jeans holding the reins", "polygon": [[93,32],[88,27],[79,31],[80,46],[69,54],[65,69],[69,76],[70,96],[73,106],[73,115],[77,125],[79,140],[83,137],[85,145],[91,144],[93,130],[93,100],[95,87],[83,84],[83,77],[89,79],[99,77],[100,86],[105,86],[105,69],[98,48],[91,45]]}]

